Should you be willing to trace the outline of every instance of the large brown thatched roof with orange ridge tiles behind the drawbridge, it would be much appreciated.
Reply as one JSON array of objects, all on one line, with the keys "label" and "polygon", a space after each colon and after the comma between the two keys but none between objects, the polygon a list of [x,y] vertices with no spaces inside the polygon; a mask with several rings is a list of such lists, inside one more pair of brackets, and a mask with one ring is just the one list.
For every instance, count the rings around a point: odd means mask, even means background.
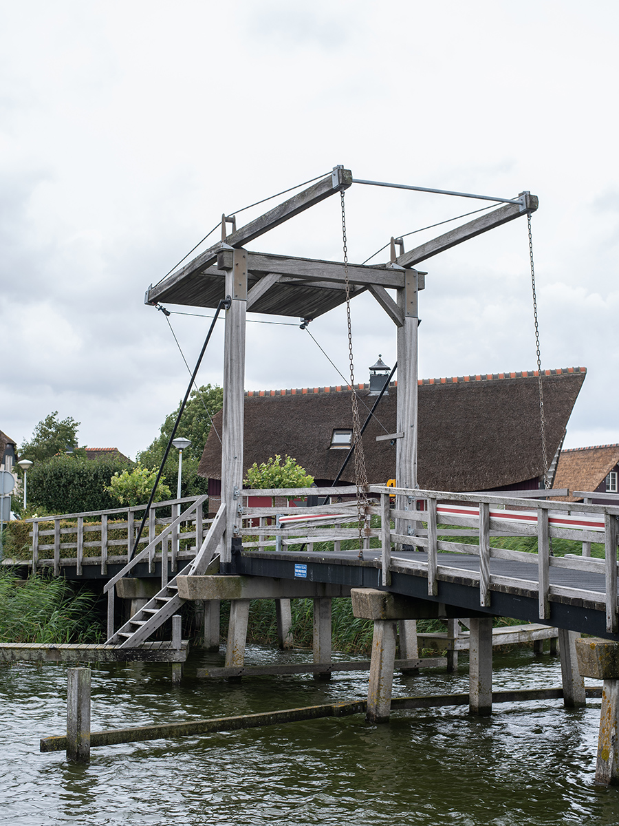
[{"label": "large brown thatched roof with orange ridge tiles behind the drawbridge", "polygon": [[[584,382],[585,368],[546,370],[542,382],[549,461],[565,434]],[[375,398],[358,385],[361,419]],[[537,373],[494,373],[418,382],[418,483],[443,491],[531,489],[543,472]],[[376,436],[395,433],[397,382],[389,388],[363,435],[370,482],[395,477],[395,444]],[[369,397],[368,397],[369,396]],[[336,477],[352,429],[350,392],[304,387],[245,393],[244,465],[279,453],[294,457],[319,485]],[[199,473],[220,490],[221,411],[210,429]],[[354,482],[350,462],[342,482]]]}]

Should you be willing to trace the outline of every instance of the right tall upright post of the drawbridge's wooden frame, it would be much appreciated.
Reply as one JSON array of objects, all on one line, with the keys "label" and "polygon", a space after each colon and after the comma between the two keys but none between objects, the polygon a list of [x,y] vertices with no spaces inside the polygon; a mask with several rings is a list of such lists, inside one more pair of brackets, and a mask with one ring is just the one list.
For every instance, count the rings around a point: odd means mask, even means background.
[{"label": "right tall upright post of the drawbridge's wooden frame", "polygon": [[[407,269],[404,287],[398,290],[398,305],[403,323],[398,327],[398,396],[396,430],[404,433],[396,439],[395,480],[398,487],[417,487],[417,373],[418,373],[418,275]],[[412,510],[408,496],[396,496],[397,510]],[[395,533],[409,533],[408,520],[396,520]],[[413,526],[411,525],[411,528]]]}]

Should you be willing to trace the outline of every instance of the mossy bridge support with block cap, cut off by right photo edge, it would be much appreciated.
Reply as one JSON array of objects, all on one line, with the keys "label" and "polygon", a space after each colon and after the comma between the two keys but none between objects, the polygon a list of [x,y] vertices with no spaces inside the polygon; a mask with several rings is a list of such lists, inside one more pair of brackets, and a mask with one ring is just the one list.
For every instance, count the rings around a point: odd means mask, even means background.
[{"label": "mossy bridge support with block cap, cut off by right photo edge", "polygon": [[619,786],[619,644],[593,637],[576,639],[574,648],[579,674],[604,681],[595,781]]}]

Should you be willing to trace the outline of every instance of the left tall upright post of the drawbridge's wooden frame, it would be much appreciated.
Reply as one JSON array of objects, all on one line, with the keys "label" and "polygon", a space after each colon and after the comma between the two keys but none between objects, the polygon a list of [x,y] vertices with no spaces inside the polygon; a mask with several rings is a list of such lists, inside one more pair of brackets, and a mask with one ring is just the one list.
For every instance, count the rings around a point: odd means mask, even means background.
[{"label": "left tall upright post of the drawbridge's wooden frame", "polygon": [[245,404],[245,319],[247,315],[247,252],[234,249],[232,269],[225,274],[224,410],[221,436],[221,501],[226,507],[221,562],[232,559],[232,539],[239,536],[243,487],[243,422]]}]

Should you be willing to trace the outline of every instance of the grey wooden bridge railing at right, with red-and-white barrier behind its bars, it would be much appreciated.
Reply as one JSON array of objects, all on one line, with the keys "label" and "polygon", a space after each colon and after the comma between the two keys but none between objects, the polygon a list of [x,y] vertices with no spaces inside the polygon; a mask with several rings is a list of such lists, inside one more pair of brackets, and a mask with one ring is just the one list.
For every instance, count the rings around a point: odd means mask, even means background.
[{"label": "grey wooden bridge railing at right, with red-and-white barrier behind its bars", "polygon": [[[619,600],[617,598],[617,539],[619,532],[619,506],[574,505],[574,502],[542,501],[490,494],[451,493],[421,489],[371,486],[371,493],[380,496],[381,510],[386,514],[386,501],[396,496],[395,510],[390,516],[395,528],[387,529],[385,517],[381,522],[382,582],[390,584],[391,565],[395,561],[410,567],[413,564],[428,577],[428,595],[437,595],[437,581],[442,576],[465,577],[479,583],[480,605],[490,605],[491,586],[528,586],[536,591],[540,619],[550,617],[550,596],[574,597],[599,602],[601,594],[586,587],[553,585],[550,583],[552,567],[568,568],[576,572],[593,572],[605,577],[603,601],[606,604],[607,629],[619,632]],[[427,510],[416,510],[416,502],[424,500]],[[422,528],[422,522],[426,525]],[[457,525],[470,530],[475,542],[452,542],[439,539],[438,525]],[[536,538],[536,551],[532,553],[497,548],[491,544],[494,534],[522,535]],[[579,544],[599,543],[604,547],[604,558],[566,554],[564,557],[551,553],[552,539],[569,539]],[[416,548],[428,553],[427,561],[398,558],[396,548]],[[476,571],[465,570],[449,561],[441,564],[440,552],[463,553],[479,557]],[[506,559],[520,563],[535,563],[536,571],[531,579],[490,574],[490,559]]]}]

